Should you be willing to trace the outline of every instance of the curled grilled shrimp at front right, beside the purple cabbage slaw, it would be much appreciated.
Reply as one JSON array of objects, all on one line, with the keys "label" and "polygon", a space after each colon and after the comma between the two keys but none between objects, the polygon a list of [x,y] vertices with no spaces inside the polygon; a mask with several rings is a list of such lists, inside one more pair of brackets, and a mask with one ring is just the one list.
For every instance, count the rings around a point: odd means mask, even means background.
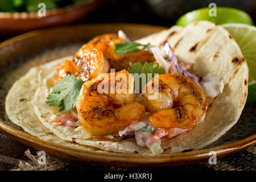
[{"label": "curled grilled shrimp at front right, beside the purple cabbage slaw", "polygon": [[[151,95],[147,86],[155,86],[158,78],[159,97],[148,99]],[[191,78],[184,75],[164,74],[154,78],[143,90],[144,105],[154,113],[150,117],[151,125],[159,128],[190,129],[200,121],[207,111],[205,93]]]}]

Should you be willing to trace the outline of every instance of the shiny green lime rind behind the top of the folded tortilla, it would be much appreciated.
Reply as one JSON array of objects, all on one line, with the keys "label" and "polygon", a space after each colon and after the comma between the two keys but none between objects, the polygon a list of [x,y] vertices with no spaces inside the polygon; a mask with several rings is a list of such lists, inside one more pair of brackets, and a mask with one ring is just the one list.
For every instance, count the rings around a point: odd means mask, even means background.
[{"label": "shiny green lime rind behind the top of the folded tortilla", "polygon": [[[245,23],[253,25],[253,20],[244,11],[233,9],[230,7],[217,7],[216,16],[209,16],[209,11],[211,9],[212,8],[205,7],[186,13],[177,20],[176,25],[186,26],[187,24],[198,20],[208,20],[216,24]],[[210,15],[211,12],[212,10],[210,11]]]}]

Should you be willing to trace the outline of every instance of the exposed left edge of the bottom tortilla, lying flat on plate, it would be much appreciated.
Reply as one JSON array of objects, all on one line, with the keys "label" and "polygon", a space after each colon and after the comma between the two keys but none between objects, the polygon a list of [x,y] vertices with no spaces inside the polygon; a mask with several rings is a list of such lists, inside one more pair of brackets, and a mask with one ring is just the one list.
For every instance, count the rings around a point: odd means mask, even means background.
[{"label": "exposed left edge of the bottom tortilla, lying flat on plate", "polygon": [[51,70],[48,70],[47,68],[57,67],[62,60],[63,59],[52,61],[51,63],[31,68],[26,75],[15,81],[6,96],[6,113],[9,119],[15,123],[15,125],[22,127],[22,129],[28,134],[31,134],[39,139],[62,144],[64,146],[81,148],[84,150],[97,150],[97,148],[85,147],[60,139],[54,135],[51,130],[45,127],[35,114],[34,105],[32,105],[31,101],[33,100],[36,89],[39,86],[38,72],[43,70],[42,76],[46,77],[51,72]]}]

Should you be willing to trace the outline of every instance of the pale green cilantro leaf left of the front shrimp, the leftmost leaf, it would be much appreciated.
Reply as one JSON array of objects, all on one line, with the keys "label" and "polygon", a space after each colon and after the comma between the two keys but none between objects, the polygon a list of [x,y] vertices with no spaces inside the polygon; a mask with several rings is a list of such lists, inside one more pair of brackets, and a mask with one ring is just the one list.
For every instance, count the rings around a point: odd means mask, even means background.
[{"label": "pale green cilantro leaf left of the front shrimp, the leftmost leaf", "polygon": [[59,106],[60,112],[71,110],[76,106],[77,97],[84,81],[77,80],[75,75],[67,75],[58,84],[53,86],[53,91],[48,95],[46,103],[49,106]]}]

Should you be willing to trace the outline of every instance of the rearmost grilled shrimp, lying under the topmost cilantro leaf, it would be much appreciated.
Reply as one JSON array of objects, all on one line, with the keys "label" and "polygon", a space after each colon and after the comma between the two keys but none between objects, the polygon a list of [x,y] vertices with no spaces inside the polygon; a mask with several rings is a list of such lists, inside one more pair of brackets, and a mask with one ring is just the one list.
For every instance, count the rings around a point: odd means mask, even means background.
[{"label": "rearmost grilled shrimp, lying under the topmost cilantro leaf", "polygon": [[114,53],[115,44],[117,43],[123,43],[123,39],[117,34],[99,35],[89,42],[89,44],[92,44],[103,52],[105,58],[109,61],[110,67],[114,68],[115,71],[127,69],[138,61],[142,64],[145,62],[156,61],[152,53],[144,50],[117,55]]}]

